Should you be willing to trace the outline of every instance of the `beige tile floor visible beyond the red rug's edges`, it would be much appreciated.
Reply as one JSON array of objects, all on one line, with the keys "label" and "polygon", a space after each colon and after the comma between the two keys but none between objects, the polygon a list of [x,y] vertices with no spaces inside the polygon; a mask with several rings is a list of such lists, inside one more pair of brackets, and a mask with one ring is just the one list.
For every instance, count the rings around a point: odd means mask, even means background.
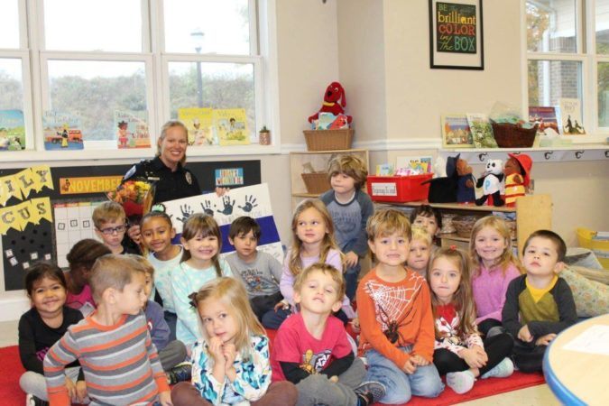
[{"label": "beige tile floor visible beyond the red rug's edges", "polygon": [[[0,346],[17,344],[17,321],[0,322]],[[475,401],[459,403],[462,406],[558,406],[560,402],[550,392],[548,385],[532,386],[520,391],[501,393]]]}]

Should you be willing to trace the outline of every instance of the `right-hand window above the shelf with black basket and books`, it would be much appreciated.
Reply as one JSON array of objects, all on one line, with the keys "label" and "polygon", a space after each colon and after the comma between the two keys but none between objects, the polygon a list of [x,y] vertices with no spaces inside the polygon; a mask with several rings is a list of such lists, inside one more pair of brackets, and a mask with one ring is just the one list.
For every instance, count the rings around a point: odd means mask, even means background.
[{"label": "right-hand window above the shelf with black basket and books", "polygon": [[609,132],[609,0],[526,0],[525,10],[529,106],[577,98],[588,134]]}]

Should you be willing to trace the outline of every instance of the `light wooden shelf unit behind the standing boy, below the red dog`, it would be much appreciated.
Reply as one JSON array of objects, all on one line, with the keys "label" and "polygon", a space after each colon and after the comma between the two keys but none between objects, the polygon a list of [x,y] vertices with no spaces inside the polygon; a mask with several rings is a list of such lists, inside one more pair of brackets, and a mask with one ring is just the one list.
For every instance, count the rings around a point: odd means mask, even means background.
[{"label": "light wooden shelf unit behind the standing boy, below the red dog", "polygon": [[302,198],[317,198],[319,193],[309,193],[302,177],[304,165],[310,164],[314,171],[328,171],[328,162],[336,155],[352,154],[365,162],[368,171],[368,150],[334,150],[334,151],[307,151],[290,152],[291,200],[294,208]]}]

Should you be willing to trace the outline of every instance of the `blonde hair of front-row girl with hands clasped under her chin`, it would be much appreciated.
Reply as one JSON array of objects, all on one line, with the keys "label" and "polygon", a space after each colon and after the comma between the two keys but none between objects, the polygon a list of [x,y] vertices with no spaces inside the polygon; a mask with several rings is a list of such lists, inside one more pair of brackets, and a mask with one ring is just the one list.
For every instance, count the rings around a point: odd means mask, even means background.
[{"label": "blonde hair of front-row girl with hands clasped under her chin", "polygon": [[[197,306],[197,312],[201,303],[208,299],[220,300],[232,313],[238,326],[235,336],[236,350],[241,352],[244,357],[249,357],[250,337],[254,334],[266,336],[266,332],[254,315],[243,283],[226,276],[208,281],[192,298],[193,304]],[[203,335],[206,334],[205,328],[203,328]]]}]

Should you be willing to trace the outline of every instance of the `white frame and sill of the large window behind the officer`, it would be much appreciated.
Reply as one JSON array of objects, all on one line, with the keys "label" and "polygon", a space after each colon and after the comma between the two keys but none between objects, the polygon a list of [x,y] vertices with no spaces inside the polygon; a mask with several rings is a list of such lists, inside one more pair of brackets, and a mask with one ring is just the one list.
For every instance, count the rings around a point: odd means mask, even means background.
[{"label": "white frame and sill of the large window behind the officer", "polygon": [[[256,133],[263,125],[273,131],[272,145],[190,146],[189,158],[222,155],[255,155],[281,152],[279,88],[276,42],[276,0],[248,0],[250,17],[250,55],[187,54],[164,51],[163,2],[140,0],[142,10],[142,52],[54,51],[44,46],[44,0],[19,0],[20,49],[0,50],[0,57],[22,59],[23,116],[26,150],[1,152],[3,161],[72,161],[152,158],[161,124],[170,118],[169,63],[237,62],[254,66],[254,106]],[[148,125],[151,148],[84,149],[46,151],[42,131],[42,112],[48,108],[49,60],[99,60],[143,62],[145,69]],[[92,142],[95,143],[95,142]],[[107,142],[100,142],[107,143]],[[103,158],[100,158],[102,156]]]}]

